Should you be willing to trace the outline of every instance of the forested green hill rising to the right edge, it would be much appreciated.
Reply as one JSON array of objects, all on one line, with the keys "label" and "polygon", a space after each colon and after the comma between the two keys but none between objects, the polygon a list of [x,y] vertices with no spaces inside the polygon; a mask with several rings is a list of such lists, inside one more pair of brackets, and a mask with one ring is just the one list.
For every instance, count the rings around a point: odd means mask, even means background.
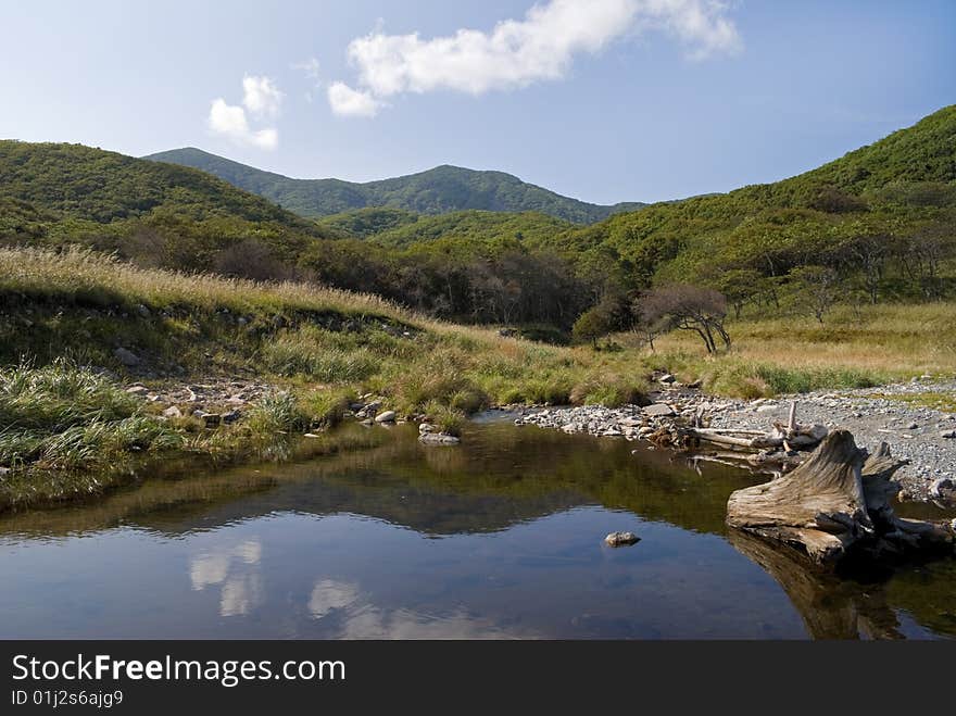
[{"label": "forested green hill rising to the right edge", "polygon": [[908,277],[919,292],[941,278],[954,226],[956,105],[806,174],[654,204],[551,243],[569,255],[619,256],[644,281],[740,282],[729,274],[737,271],[750,272],[747,281],[779,279],[817,264],[886,287]]}]

